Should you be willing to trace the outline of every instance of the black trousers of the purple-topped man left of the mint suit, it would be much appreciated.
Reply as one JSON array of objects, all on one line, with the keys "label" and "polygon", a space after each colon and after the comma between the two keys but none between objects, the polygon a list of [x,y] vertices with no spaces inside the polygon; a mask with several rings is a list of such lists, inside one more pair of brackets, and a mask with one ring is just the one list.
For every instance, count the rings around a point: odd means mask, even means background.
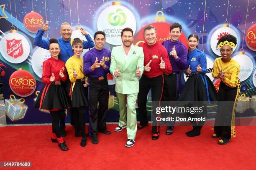
[{"label": "black trousers of the purple-topped man left of the mint suit", "polygon": [[[91,136],[97,136],[98,130],[106,130],[106,113],[108,111],[108,80],[90,77],[88,87],[89,118]],[[98,107],[99,103],[99,107]]]}]

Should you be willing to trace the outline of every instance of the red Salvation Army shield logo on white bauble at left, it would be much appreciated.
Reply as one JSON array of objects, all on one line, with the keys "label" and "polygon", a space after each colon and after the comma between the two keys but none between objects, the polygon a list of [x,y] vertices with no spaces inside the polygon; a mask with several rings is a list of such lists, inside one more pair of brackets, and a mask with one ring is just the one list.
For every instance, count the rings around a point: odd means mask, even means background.
[{"label": "red Salvation Army shield logo on white bauble at left", "polygon": [[23,55],[22,40],[6,40],[6,52],[10,57],[18,58]]}]

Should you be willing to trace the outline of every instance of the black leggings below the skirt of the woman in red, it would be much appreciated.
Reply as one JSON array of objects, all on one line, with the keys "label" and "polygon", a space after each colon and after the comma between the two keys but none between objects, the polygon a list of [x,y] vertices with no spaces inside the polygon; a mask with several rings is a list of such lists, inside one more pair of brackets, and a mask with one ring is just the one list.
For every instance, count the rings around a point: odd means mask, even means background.
[{"label": "black leggings below the skirt of the woman in red", "polygon": [[52,133],[55,133],[57,138],[61,137],[61,128],[59,125],[59,120],[63,115],[65,116],[65,110],[50,111],[51,113],[51,125]]}]

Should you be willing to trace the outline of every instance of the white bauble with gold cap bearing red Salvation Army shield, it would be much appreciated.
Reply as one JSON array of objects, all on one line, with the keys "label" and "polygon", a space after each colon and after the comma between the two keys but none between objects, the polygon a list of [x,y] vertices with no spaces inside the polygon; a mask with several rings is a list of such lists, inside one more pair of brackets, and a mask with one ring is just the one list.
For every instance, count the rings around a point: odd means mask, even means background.
[{"label": "white bauble with gold cap bearing red Salvation Army shield", "polygon": [[0,52],[5,60],[17,64],[28,58],[30,46],[23,35],[16,30],[10,30],[0,41]]}]

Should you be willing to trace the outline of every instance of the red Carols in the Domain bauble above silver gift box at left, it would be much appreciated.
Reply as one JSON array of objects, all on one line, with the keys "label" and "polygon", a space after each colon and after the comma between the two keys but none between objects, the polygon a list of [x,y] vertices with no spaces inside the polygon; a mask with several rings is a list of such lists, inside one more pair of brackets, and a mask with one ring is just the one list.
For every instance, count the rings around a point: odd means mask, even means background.
[{"label": "red Carols in the Domain bauble above silver gift box at left", "polygon": [[9,85],[16,95],[26,97],[36,90],[36,79],[30,72],[19,69],[10,76]]}]

